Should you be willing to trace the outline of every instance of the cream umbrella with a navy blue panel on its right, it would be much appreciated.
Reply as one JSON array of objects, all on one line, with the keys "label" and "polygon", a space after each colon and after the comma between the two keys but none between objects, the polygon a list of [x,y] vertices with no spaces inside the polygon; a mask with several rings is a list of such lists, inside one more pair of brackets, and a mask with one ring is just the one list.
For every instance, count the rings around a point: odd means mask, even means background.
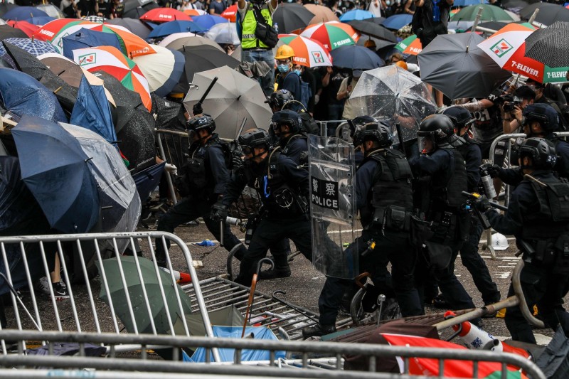
[{"label": "cream umbrella with a navy blue panel on its right", "polygon": [[150,92],[167,96],[184,73],[186,58],[177,50],[156,45],[152,48],[156,54],[141,55],[132,60],[138,65],[144,78],[147,78]]}]

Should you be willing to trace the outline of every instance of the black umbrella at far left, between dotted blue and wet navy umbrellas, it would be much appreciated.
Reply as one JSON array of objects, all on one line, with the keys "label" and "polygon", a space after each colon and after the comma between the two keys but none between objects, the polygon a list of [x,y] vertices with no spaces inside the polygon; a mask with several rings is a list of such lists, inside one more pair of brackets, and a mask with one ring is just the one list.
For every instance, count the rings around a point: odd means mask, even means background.
[{"label": "black umbrella at far left, between dotted blue and wet navy umbrellas", "polygon": [[45,85],[58,98],[60,105],[69,113],[77,100],[77,90],[68,85],[63,79],[52,73],[41,61],[18,46],[4,41],[4,48],[14,61],[16,69],[30,75]]}]

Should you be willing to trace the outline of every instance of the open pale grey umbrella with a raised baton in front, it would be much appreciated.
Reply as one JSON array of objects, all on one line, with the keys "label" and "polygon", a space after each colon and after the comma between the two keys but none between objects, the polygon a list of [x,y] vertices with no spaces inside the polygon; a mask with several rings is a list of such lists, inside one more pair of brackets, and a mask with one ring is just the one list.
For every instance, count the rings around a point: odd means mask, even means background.
[{"label": "open pale grey umbrella with a raised baton in front", "polygon": [[200,100],[216,76],[218,81],[203,102],[203,109],[216,121],[216,132],[219,136],[235,138],[235,133],[245,117],[247,122],[244,130],[266,127],[272,112],[265,104],[266,97],[259,82],[228,67],[196,73],[193,76],[192,82],[197,87],[192,88],[184,99],[186,110],[191,112],[193,105]]}]

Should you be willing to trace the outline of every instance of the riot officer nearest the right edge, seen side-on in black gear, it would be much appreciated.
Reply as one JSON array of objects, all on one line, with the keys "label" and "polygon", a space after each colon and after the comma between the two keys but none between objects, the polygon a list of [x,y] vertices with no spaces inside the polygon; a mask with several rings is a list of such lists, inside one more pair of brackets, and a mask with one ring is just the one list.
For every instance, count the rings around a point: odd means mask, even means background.
[{"label": "riot officer nearest the right edge, seen side-on in black gear", "polygon": [[[545,139],[526,139],[518,159],[523,180],[512,191],[506,213],[489,211],[486,198],[475,206],[486,210],[492,228],[516,237],[523,253],[520,281],[528,306],[537,304],[546,326],[555,330],[560,324],[569,336],[569,314],[562,306],[569,289],[569,184],[553,175],[556,160],[555,149]],[[508,296],[513,294],[510,286]],[[507,309],[505,321],[512,339],[536,343],[518,306]]]}]

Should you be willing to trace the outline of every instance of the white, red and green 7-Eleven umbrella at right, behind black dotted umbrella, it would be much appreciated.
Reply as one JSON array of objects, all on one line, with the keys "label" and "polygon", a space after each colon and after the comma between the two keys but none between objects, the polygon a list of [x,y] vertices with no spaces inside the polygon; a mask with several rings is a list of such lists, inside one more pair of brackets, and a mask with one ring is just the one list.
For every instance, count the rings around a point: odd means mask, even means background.
[{"label": "white, red and green 7-Eleven umbrella at right, behind black dotted umbrella", "polygon": [[525,56],[526,38],[534,30],[528,23],[509,23],[478,46],[504,70],[542,83],[565,82],[565,73],[569,68],[551,68]]}]

